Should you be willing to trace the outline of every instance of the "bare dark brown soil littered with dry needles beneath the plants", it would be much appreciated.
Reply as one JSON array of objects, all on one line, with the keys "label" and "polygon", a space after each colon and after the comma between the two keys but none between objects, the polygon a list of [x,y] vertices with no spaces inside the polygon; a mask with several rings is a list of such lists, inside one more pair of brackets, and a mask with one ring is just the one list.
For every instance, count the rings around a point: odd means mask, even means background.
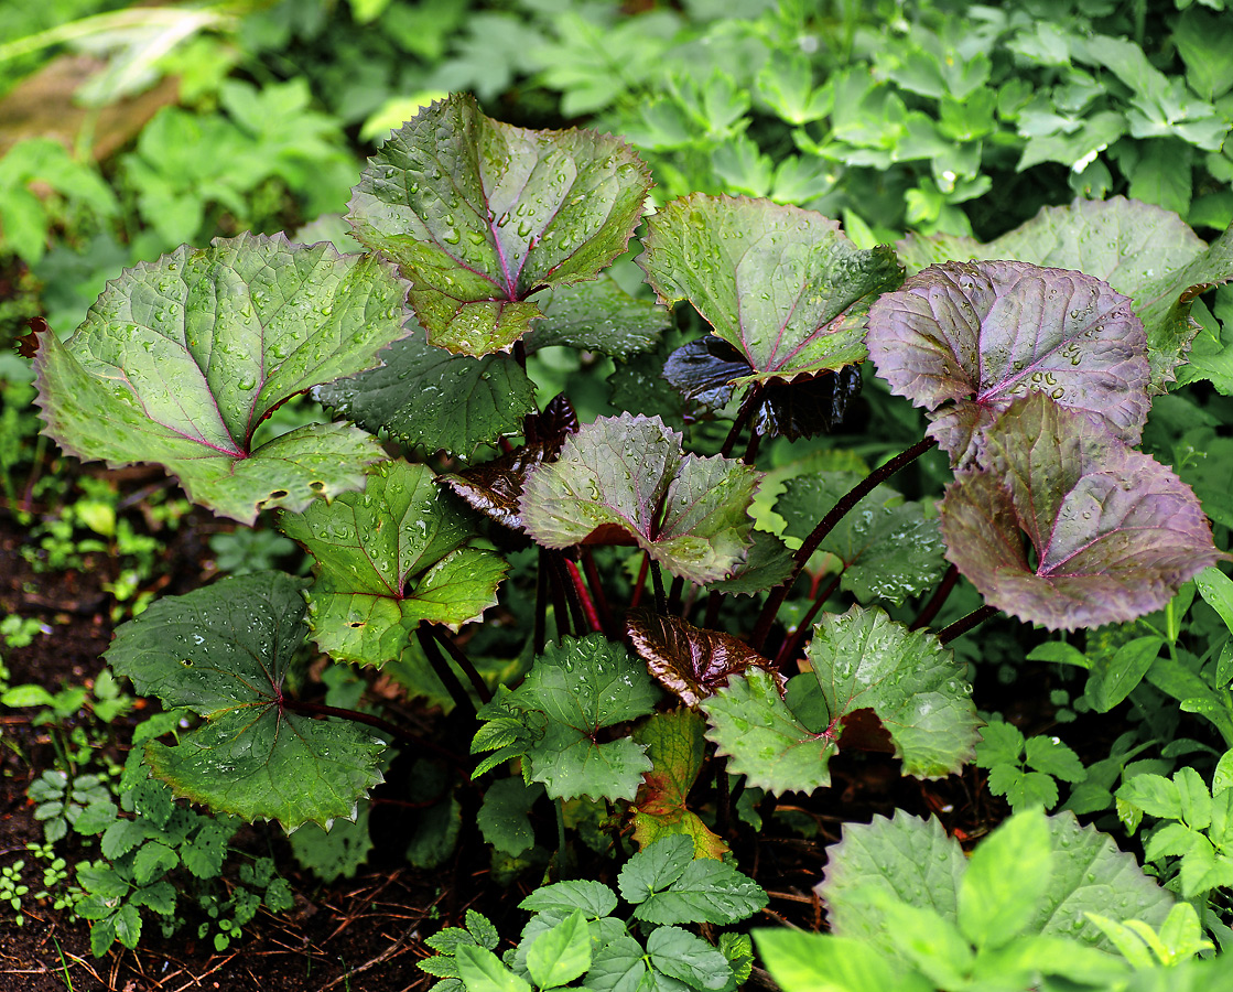
[{"label": "bare dark brown soil littered with dry needles beneath the plants", "polygon": [[[117,477],[122,489],[137,496],[162,485],[157,473],[145,470]],[[132,501],[132,512],[138,503]],[[212,574],[208,538],[219,527],[207,513],[194,511],[176,529],[159,533],[165,550],[149,587],[160,595],[182,593],[207,581]],[[89,555],[80,569],[36,572],[21,554],[28,542],[28,528],[0,507],[0,616],[35,617],[48,630],[28,647],[4,651],[10,682],[37,682],[51,691],[63,684],[90,685],[102,668],[100,655],[111,637],[113,600],[104,584],[113,577],[117,566],[105,555]],[[57,750],[49,728],[32,725],[30,712],[0,714],[0,865],[26,856],[25,845],[42,840],[42,824],[33,818],[26,790],[42,771],[55,767]],[[429,730],[434,721],[444,729],[439,714],[416,717]],[[104,746],[113,748],[116,760],[122,760],[126,728],[112,729],[113,740]],[[107,739],[101,730],[97,735]],[[919,782],[900,777],[898,761],[879,754],[841,754],[832,760],[831,770],[831,788],[820,790],[800,806],[785,797],[778,809],[789,816],[767,819],[761,834],[743,827],[743,834],[734,839],[741,869],[771,893],[769,907],[755,923],[789,922],[806,929],[821,925],[822,911],[813,887],[821,878],[824,849],[838,839],[843,822],[868,822],[873,814],[889,816],[898,807],[921,816],[936,813],[951,833],[969,840],[1004,812],[1000,803],[989,800],[972,770],[963,777]],[[538,880],[512,888],[493,883],[487,871],[488,850],[473,822],[464,824],[459,849],[449,864],[432,872],[413,870],[401,860],[406,841],[398,843],[406,832],[404,804],[380,791],[374,800],[376,851],[392,855],[383,855],[383,860],[379,856],[358,877],[329,887],[296,866],[276,830],[253,828],[240,835],[253,850],[272,849],[279,855],[279,870],[296,892],[296,906],[280,916],[263,912],[245,927],[244,939],[223,954],[215,953],[208,939],[196,940],[195,925],[181,928],[170,940],[157,927],[147,925],[137,950],[116,944],[106,956],[96,959],[90,954],[88,925],[68,913],[53,912],[48,901],[38,904],[27,897],[22,927],[4,907],[0,992],[396,992],[432,983],[416,967],[417,960],[430,953],[423,938],[441,927],[460,925],[467,908],[488,916],[507,940],[517,939],[525,922],[517,904]],[[472,814],[475,806],[470,806]],[[62,841],[73,843],[79,841]],[[75,850],[81,858],[96,856],[88,848]],[[27,865],[31,861],[27,858]],[[612,864],[594,856],[591,864],[577,866],[577,876],[610,881]],[[33,881],[28,872],[26,881]]]}]

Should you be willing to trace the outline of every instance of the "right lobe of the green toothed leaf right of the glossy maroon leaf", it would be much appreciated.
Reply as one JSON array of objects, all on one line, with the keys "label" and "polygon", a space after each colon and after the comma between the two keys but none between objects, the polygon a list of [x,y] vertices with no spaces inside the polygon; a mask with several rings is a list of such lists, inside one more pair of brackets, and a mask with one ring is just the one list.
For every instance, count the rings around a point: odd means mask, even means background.
[{"label": "right lobe of the green toothed leaf right of the glossy maroon leaf", "polygon": [[933,634],[853,606],[842,616],[824,614],[806,654],[831,718],[873,709],[905,775],[937,779],[974,758],[972,687]]}]

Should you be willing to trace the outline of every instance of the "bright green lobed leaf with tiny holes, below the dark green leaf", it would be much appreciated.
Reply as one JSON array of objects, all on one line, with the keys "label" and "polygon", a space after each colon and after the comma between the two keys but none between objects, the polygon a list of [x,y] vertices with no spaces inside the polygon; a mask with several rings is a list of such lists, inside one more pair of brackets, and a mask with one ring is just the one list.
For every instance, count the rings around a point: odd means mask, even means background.
[{"label": "bright green lobed leaf with tiny holes, below the dark green leaf", "polygon": [[380,668],[409,650],[422,621],[456,630],[497,602],[508,565],[467,547],[475,517],[424,465],[391,461],[363,494],[284,513],[279,528],[317,560],[313,640],[338,660]]}]

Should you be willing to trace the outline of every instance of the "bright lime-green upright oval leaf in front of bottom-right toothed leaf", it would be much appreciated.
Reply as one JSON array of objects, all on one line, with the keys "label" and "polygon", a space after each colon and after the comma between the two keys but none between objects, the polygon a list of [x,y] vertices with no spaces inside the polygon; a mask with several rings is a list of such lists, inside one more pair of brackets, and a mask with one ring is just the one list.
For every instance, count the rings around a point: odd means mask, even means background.
[{"label": "bright lime-green upright oval leaf in front of bottom-right toothed leaf", "polygon": [[1022,933],[1049,888],[1052,853],[1044,814],[1016,813],[977,845],[959,883],[958,923],[978,949]]}]

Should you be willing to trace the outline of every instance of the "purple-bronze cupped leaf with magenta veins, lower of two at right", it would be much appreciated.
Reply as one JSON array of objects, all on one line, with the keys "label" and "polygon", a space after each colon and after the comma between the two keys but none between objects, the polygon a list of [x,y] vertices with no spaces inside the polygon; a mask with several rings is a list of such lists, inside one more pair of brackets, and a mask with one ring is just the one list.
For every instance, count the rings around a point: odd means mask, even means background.
[{"label": "purple-bronze cupped leaf with magenta veins, lower of two at right", "polygon": [[985,437],[991,468],[947,487],[942,535],[999,610],[1054,630],[1122,623],[1224,558],[1171,470],[1044,395],[1016,400]]}]

